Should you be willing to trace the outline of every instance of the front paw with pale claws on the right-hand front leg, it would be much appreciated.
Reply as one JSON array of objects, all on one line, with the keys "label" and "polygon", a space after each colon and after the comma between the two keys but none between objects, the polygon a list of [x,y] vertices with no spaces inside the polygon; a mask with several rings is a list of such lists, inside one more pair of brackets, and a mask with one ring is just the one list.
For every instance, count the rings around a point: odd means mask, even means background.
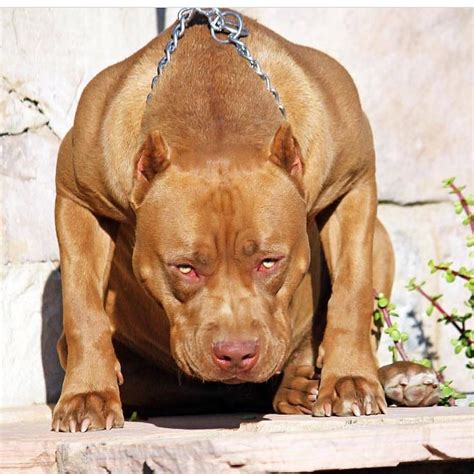
[{"label": "front paw with pale claws on the right-hand front leg", "polygon": [[377,415],[385,413],[386,407],[378,380],[360,376],[325,376],[323,372],[313,416]]}]

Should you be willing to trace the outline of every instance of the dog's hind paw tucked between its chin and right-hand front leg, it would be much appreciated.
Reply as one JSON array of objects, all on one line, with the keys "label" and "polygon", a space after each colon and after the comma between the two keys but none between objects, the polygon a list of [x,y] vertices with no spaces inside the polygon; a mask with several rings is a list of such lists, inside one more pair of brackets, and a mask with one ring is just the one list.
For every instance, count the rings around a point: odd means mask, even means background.
[{"label": "dog's hind paw tucked between its chin and right-hand front leg", "polygon": [[318,395],[319,379],[310,365],[289,366],[273,399],[277,413],[311,414]]}]

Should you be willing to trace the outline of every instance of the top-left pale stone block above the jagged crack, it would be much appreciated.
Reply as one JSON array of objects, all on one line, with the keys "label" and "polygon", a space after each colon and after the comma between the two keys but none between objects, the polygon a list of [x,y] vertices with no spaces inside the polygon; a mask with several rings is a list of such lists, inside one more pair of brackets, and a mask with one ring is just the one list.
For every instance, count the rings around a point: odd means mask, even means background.
[{"label": "top-left pale stone block above the jagged crack", "polygon": [[2,76],[18,94],[41,104],[52,130],[63,137],[86,84],[156,36],[156,10],[5,8],[0,24]]}]

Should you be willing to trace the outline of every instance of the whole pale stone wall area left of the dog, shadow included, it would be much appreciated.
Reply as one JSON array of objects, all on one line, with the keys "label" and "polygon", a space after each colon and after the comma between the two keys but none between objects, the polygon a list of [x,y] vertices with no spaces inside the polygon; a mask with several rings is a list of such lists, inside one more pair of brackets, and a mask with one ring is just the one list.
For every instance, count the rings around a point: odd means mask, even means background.
[{"label": "whole pale stone wall area left of the dog, shadow included", "polygon": [[85,85],[157,34],[156,10],[1,9],[0,406],[57,398],[54,174]]}]

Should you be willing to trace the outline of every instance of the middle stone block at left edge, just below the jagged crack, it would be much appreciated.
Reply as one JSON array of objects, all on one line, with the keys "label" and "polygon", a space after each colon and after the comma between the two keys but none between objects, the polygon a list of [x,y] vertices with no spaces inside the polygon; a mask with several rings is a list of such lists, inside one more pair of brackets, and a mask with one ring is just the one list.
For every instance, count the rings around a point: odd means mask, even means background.
[{"label": "middle stone block at left edge, just below the jagged crack", "polygon": [[58,259],[54,229],[54,175],[58,139],[47,127],[0,139],[3,188],[0,262]]}]

